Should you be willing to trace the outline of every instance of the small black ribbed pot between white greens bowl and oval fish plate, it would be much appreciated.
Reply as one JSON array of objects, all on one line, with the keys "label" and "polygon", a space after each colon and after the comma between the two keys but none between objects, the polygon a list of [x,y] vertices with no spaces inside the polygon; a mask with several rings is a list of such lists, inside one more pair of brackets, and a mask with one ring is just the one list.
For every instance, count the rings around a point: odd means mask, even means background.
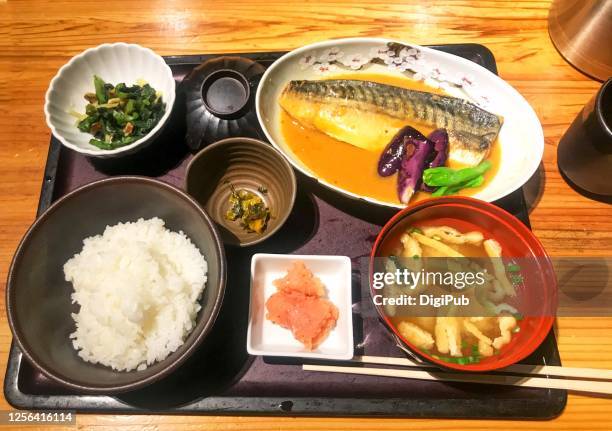
[{"label": "small black ribbed pot between white greens bowl and oval fish plate", "polygon": [[261,139],[254,97],[265,72],[244,57],[217,57],[195,67],[181,83],[187,114],[187,145],[198,150],[220,139]]}]

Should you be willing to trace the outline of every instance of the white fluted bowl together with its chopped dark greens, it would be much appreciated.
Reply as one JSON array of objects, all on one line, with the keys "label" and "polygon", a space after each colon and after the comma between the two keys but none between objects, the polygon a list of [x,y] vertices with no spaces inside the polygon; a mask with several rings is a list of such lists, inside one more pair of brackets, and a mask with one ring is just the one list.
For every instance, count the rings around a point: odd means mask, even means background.
[{"label": "white fluted bowl together with its chopped dark greens", "polygon": [[162,57],[139,45],[104,44],[58,71],[47,90],[45,116],[66,147],[113,157],[152,142],[174,100],[174,78]]}]

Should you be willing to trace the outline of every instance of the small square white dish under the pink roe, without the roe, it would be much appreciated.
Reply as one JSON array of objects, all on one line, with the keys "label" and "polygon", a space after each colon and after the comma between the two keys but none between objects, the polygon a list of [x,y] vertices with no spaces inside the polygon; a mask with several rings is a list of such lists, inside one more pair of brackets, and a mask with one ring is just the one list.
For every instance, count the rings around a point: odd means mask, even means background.
[{"label": "small square white dish under the pink roe, without the roe", "polygon": [[[287,273],[292,262],[303,261],[321,279],[327,298],[338,307],[338,321],[315,350],[307,350],[290,330],[266,319],[266,301],[276,293],[273,281]],[[346,256],[314,256],[257,253],[251,259],[251,303],[247,332],[251,355],[312,359],[353,357],[351,260]]]}]

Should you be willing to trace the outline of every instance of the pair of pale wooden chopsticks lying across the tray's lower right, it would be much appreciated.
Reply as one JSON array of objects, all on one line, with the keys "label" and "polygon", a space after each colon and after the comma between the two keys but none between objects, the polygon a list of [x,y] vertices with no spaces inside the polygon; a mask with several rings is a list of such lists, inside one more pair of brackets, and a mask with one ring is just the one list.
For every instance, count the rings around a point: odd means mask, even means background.
[{"label": "pair of pale wooden chopsticks lying across the tray's lower right", "polygon": [[[453,373],[447,371],[424,371],[416,368],[434,368],[430,364],[421,364],[407,358],[387,358],[379,356],[355,357],[353,363],[374,363],[381,365],[401,365],[412,369],[372,368],[335,365],[303,365],[305,371],[328,373],[361,374],[369,376],[399,377],[404,379],[432,380],[458,383],[480,383],[489,385],[524,386],[545,389],[565,389],[577,392],[612,394],[612,381],[570,380],[555,377],[532,377],[530,375],[574,377],[578,379],[612,379],[612,371],[589,368],[564,368],[549,365],[531,366],[517,364],[505,368],[502,372],[491,374]],[[506,375],[517,373],[529,375]]]}]

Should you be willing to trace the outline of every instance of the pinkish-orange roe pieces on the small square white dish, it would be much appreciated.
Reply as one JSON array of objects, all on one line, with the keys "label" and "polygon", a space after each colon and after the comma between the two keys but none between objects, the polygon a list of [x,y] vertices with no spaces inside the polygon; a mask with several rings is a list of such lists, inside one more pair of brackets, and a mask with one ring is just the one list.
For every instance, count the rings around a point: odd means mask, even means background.
[{"label": "pinkish-orange roe pieces on the small square white dish", "polygon": [[274,285],[278,292],[266,301],[266,318],[289,329],[308,350],[316,349],[338,320],[338,308],[323,297],[323,283],[297,261]]}]

